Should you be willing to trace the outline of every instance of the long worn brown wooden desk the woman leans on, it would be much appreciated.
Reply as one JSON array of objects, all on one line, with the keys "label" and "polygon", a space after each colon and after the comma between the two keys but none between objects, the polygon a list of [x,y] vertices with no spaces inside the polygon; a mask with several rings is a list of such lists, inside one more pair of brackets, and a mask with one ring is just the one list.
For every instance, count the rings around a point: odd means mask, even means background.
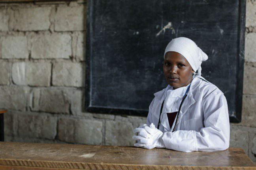
[{"label": "long worn brown wooden desk the woman leans on", "polygon": [[256,170],[241,148],[184,153],[129,146],[0,142],[1,170]]}]

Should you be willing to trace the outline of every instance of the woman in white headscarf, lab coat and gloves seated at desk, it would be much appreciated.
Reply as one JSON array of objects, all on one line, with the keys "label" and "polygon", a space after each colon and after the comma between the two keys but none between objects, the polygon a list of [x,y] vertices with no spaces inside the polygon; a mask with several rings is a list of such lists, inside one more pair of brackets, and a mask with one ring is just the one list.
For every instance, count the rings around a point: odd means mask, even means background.
[{"label": "woman in white headscarf, lab coat and gloves seated at desk", "polygon": [[134,129],[134,146],[183,152],[229,147],[226,98],[201,77],[201,63],[207,59],[191,39],[179,37],[167,45],[163,70],[168,86],[154,93],[147,124]]}]

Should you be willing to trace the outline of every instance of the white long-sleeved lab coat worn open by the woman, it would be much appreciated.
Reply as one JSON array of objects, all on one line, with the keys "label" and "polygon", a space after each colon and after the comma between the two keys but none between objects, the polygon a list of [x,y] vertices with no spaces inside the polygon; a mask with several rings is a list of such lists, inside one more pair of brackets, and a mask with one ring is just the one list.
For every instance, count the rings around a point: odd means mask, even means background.
[{"label": "white long-sleeved lab coat worn open by the woman", "polygon": [[[169,87],[154,93],[147,125],[154,123],[157,127],[162,102],[168,101],[168,97],[165,97],[168,96]],[[164,102],[159,129],[164,133],[162,140],[166,148],[190,152],[220,151],[229,147],[228,105],[226,97],[215,85],[198,77],[192,80],[174,132],[171,132],[174,125],[170,127],[166,114],[172,112],[171,109]]]}]

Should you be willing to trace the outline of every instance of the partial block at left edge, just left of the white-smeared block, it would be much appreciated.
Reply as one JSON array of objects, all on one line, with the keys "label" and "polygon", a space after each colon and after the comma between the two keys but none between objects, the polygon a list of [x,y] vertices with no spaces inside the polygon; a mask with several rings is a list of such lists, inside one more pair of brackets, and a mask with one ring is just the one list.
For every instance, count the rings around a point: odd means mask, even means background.
[{"label": "partial block at left edge, just left of the white-smeared block", "polygon": [[0,84],[9,85],[11,77],[11,63],[0,60]]}]

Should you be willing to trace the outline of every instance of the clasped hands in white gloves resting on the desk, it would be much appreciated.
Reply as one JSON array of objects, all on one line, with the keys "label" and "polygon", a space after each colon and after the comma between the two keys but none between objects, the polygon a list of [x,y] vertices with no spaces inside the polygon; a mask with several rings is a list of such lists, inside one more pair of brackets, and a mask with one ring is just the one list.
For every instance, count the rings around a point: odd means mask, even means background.
[{"label": "clasped hands in white gloves resting on the desk", "polygon": [[134,146],[152,149],[152,148],[165,148],[162,140],[163,133],[159,129],[156,129],[153,123],[150,126],[144,124],[134,129],[134,133],[138,133],[137,136],[132,136],[137,143]]}]

